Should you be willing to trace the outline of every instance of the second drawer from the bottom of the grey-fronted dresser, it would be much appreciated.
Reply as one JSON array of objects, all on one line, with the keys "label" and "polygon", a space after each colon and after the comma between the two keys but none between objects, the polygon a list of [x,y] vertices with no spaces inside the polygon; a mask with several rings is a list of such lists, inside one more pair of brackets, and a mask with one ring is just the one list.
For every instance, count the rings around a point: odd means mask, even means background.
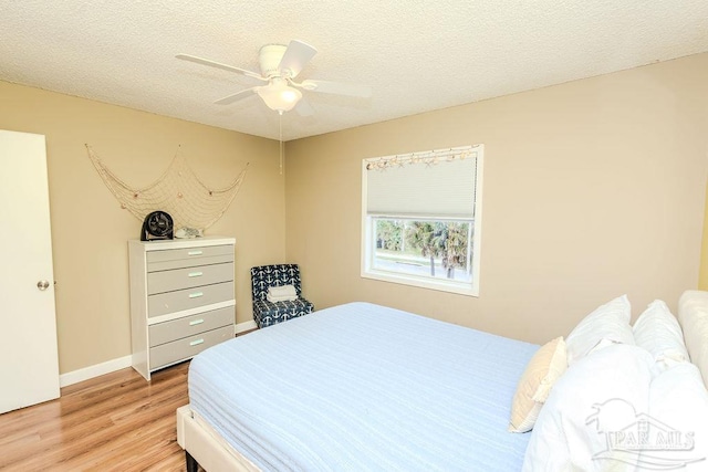
[{"label": "second drawer from the bottom of the grey-fronted dresser", "polygon": [[187,336],[196,336],[199,333],[229,326],[233,331],[233,306],[185,316],[171,322],[158,323],[148,327],[150,347],[181,339]]}]

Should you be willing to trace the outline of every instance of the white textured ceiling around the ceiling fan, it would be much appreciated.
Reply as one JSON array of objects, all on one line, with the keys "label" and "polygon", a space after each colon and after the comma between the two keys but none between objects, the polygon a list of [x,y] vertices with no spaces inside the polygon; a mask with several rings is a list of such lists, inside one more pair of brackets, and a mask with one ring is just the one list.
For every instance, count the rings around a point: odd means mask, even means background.
[{"label": "white textured ceiling around the ceiling fan", "polygon": [[253,78],[267,43],[317,54],[299,80],[369,85],[371,98],[305,92],[283,140],[708,51],[706,0],[2,0],[0,80],[279,138]]}]

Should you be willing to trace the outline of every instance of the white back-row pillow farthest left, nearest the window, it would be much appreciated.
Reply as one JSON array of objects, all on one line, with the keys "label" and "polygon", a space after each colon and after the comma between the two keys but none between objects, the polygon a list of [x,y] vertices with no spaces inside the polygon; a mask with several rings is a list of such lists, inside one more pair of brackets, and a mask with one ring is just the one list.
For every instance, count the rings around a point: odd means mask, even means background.
[{"label": "white back-row pillow farthest left, nearest the window", "polygon": [[568,365],[612,344],[635,344],[629,326],[631,316],[632,307],[627,295],[595,308],[565,338]]}]

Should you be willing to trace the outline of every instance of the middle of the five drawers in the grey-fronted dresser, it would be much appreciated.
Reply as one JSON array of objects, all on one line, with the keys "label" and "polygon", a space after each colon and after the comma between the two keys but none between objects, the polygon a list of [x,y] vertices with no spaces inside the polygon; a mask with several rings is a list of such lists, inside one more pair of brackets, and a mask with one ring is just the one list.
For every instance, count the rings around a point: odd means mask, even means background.
[{"label": "middle of the five drawers in the grey-fronted dresser", "polygon": [[147,297],[147,316],[160,316],[229,300],[233,300],[233,282],[158,293]]}]

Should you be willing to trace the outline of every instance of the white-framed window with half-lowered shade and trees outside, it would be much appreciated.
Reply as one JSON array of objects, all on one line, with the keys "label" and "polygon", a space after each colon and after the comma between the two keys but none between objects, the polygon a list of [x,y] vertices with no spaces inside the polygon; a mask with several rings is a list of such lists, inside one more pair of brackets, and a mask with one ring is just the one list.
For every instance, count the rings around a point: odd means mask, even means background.
[{"label": "white-framed window with half-lowered shade and trees outside", "polygon": [[479,296],[483,146],[363,161],[362,276]]}]

